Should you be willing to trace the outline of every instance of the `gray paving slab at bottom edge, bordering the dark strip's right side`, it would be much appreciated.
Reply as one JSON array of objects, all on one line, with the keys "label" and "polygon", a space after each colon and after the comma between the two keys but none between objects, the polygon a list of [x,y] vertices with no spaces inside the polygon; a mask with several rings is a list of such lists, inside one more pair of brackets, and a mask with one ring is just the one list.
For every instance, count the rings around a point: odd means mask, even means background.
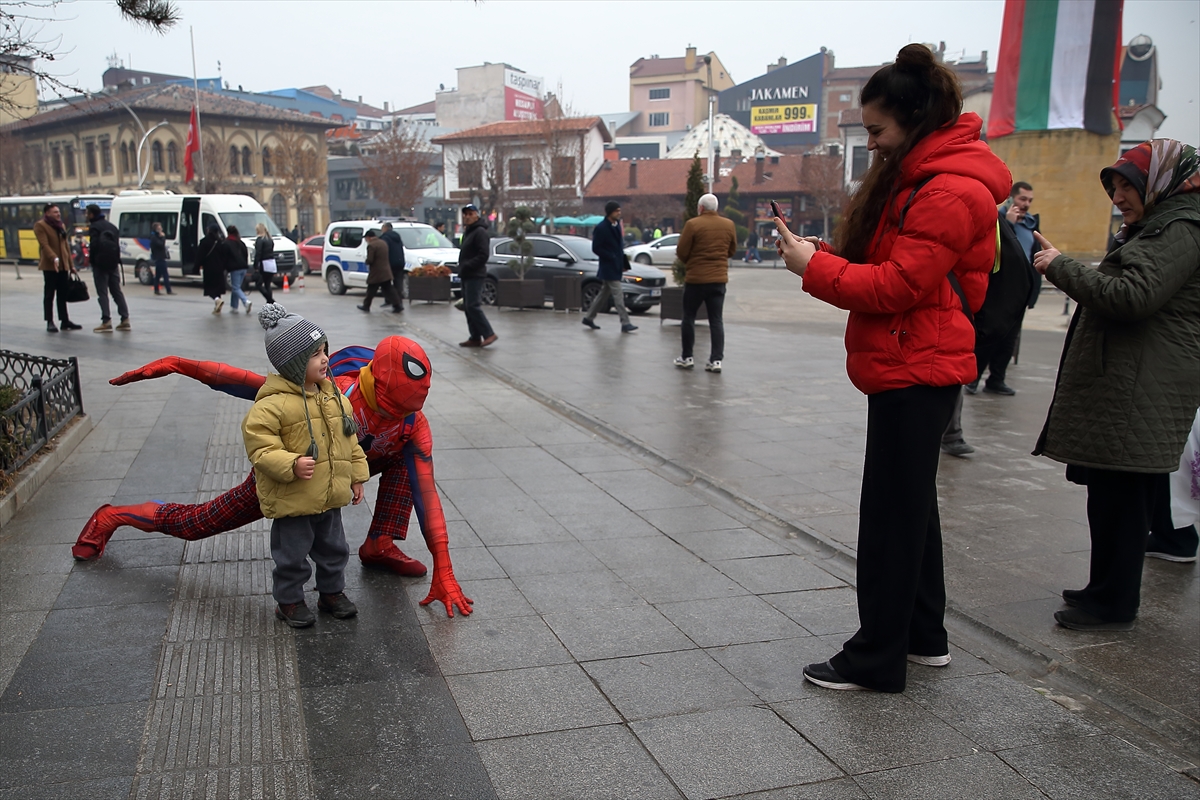
[{"label": "gray paving slab at bottom edge, bordering the dark strip's right side", "polygon": [[662,770],[624,726],[481,741],[504,800],[678,800]]}]

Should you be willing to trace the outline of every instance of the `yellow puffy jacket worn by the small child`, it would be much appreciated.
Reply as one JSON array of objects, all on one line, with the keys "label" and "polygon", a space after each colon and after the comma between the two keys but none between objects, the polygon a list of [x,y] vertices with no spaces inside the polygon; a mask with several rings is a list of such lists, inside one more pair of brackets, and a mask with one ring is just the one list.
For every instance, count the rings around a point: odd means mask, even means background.
[{"label": "yellow puffy jacket worn by the small child", "polygon": [[[292,469],[308,452],[312,441],[305,403],[312,420],[312,440],[319,452],[312,477],[301,481]],[[241,423],[241,435],[254,465],[258,505],[268,519],[341,509],[350,501],[350,485],[366,483],[367,457],[358,437],[343,432],[338,404],[353,419],[350,402],[330,380],[323,380],[316,393],[307,393],[282,375],[270,374],[258,390],[254,405]]]}]

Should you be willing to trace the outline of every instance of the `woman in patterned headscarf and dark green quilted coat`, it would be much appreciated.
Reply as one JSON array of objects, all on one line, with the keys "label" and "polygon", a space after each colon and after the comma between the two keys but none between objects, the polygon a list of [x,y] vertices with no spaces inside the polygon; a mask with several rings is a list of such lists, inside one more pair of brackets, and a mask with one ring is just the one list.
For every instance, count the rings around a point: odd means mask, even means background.
[{"label": "woman in patterned headscarf and dark green quilted coat", "polygon": [[1124,218],[1099,269],[1040,234],[1033,266],[1079,303],[1033,453],[1087,487],[1091,577],[1055,613],[1076,631],[1128,631],[1154,506],[1200,405],[1200,158],[1144,142],[1100,172]]}]

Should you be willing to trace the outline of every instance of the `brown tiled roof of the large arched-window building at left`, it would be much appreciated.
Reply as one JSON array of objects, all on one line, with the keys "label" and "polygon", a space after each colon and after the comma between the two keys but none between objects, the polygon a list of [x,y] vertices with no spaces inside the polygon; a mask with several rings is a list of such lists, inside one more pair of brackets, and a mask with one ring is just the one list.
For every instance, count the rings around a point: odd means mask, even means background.
[{"label": "brown tiled roof of the large arched-window building at left", "polygon": [[[326,120],[313,119],[298,112],[275,108],[274,106],[266,106],[265,103],[253,103],[246,100],[227,97],[224,95],[217,95],[209,91],[199,92],[199,97],[202,121],[205,116],[222,116],[275,120],[304,128],[329,127],[329,122]],[[190,114],[192,112],[192,101],[194,98],[196,94],[190,88],[176,84],[155,84],[143,89],[122,91],[119,96],[98,95],[91,100],[72,102],[70,106],[65,106],[62,108],[55,108],[50,112],[35,114],[25,120],[10,122],[0,130],[10,132],[29,131],[43,126],[61,125],[103,114],[128,114],[121,102],[134,110],[178,112],[180,114]],[[118,100],[121,102],[118,102]]]}]

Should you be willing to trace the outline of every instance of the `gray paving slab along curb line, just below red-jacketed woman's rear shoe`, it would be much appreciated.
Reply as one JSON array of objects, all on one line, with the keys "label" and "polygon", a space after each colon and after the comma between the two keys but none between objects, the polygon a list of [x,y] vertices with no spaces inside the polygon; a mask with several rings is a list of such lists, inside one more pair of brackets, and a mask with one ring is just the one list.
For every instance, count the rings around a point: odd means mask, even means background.
[{"label": "gray paving slab along curb line, just below red-jacketed woman's rear shoe", "polygon": [[991,751],[1098,733],[1054,700],[998,673],[916,684],[907,697]]}]

